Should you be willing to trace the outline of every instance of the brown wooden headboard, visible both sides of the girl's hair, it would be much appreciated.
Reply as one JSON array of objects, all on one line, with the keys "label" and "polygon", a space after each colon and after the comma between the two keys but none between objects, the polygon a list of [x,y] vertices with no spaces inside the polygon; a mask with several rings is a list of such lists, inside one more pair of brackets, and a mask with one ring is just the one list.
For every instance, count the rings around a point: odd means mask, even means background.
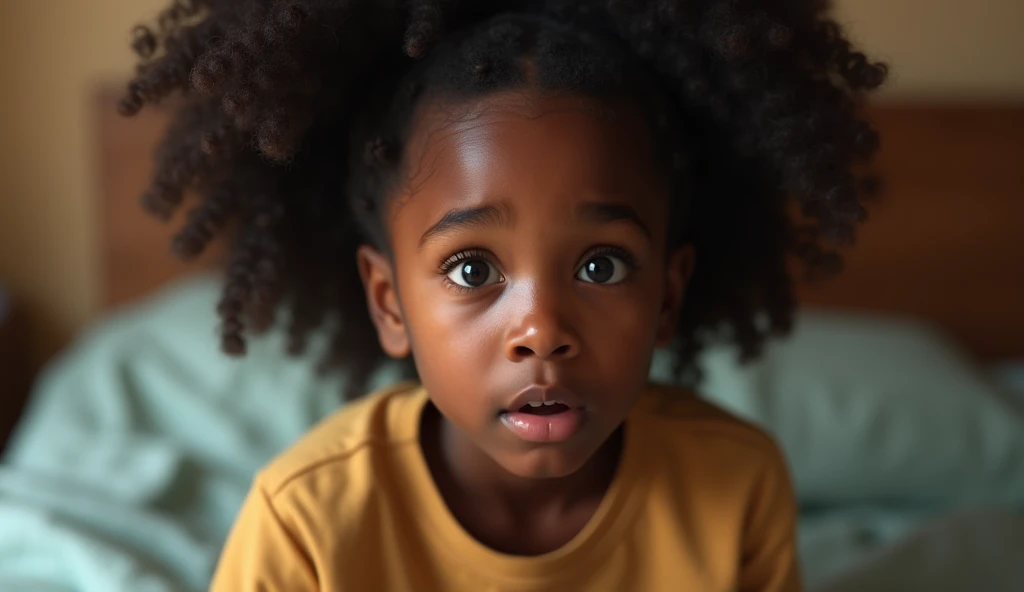
[{"label": "brown wooden headboard, visible both sides of the girl's hair", "polygon": [[[137,198],[167,110],[134,119],[96,101],[106,305],[147,294],[187,269],[169,254],[171,227]],[[982,358],[1024,356],[1024,104],[878,107],[885,192],[846,254],[846,270],[802,286],[807,304],[932,321]],[[196,268],[195,266],[191,268]]]}]

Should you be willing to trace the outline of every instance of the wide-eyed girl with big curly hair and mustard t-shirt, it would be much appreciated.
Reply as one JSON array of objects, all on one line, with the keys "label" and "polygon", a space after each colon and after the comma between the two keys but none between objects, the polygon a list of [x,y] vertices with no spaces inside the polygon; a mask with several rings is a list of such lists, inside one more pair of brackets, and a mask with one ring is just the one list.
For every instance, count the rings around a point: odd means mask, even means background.
[{"label": "wide-eyed girl with big curly hair and mustard t-shirt", "polygon": [[186,258],[229,228],[224,349],[283,319],[353,392],[385,356],[418,379],[261,471],[213,588],[799,590],[775,445],[648,371],[756,355],[791,260],[852,240],[885,69],[823,4],[176,0],[139,28],[122,111],[184,95],[143,202],[199,197]]}]

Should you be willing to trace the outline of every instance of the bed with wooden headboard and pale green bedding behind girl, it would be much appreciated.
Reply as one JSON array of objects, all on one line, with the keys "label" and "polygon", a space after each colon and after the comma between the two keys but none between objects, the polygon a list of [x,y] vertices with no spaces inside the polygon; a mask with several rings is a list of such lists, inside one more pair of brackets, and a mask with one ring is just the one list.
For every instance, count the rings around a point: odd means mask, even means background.
[{"label": "bed with wooden headboard and pale green bedding behind girl", "polygon": [[[115,98],[95,100],[106,313],[4,452],[5,591],[204,589],[253,472],[341,405],[322,342],[220,356],[217,251],[174,262],[135,206],[167,112],[121,120]],[[801,288],[761,362],[709,352],[705,394],[783,447],[813,592],[1024,590],[1024,105],[869,115],[887,185],[845,274]]]}]

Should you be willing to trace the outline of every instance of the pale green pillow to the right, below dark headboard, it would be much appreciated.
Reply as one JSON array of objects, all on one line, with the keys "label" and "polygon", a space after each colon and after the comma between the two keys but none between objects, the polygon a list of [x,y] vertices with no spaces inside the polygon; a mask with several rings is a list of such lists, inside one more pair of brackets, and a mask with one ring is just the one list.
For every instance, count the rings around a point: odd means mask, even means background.
[{"label": "pale green pillow to the right, below dark headboard", "polygon": [[930,327],[805,311],[759,361],[701,365],[709,399],[779,440],[804,503],[1024,504],[1024,414]]}]

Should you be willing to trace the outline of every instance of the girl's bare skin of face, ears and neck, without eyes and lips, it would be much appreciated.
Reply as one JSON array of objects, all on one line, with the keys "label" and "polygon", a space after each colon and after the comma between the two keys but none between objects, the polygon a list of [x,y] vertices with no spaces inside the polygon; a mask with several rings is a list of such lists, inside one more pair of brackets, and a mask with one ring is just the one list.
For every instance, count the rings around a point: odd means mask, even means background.
[{"label": "girl's bare skin of face, ears and neck, without eyes and lips", "polygon": [[[358,257],[381,345],[412,353],[430,394],[427,462],[483,544],[557,549],[614,474],[618,428],[654,347],[673,337],[693,264],[688,247],[667,248],[669,198],[647,128],[634,110],[571,95],[432,100],[403,166],[390,201],[392,256],[364,247]],[[635,218],[583,215],[594,204],[628,206],[617,211]],[[425,238],[446,213],[483,206],[492,215]],[[486,285],[459,287],[441,270],[466,252],[493,271]],[[613,282],[580,278],[595,256],[614,258]],[[553,384],[585,401],[567,440],[527,442],[499,420],[522,389]]]}]

